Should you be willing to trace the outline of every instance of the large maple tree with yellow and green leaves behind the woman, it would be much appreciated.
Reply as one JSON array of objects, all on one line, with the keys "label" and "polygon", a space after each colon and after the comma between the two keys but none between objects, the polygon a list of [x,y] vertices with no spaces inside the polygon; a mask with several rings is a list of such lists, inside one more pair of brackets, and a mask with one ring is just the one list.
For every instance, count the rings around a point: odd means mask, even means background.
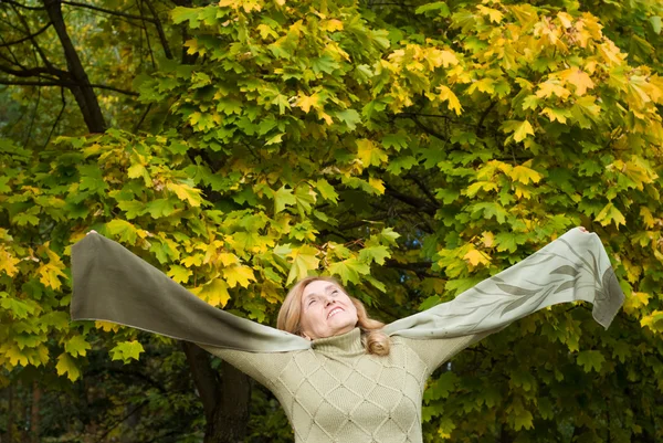
[{"label": "large maple tree with yellow and green leaves behind the woman", "polygon": [[[427,437],[656,441],[660,17],[552,1],[172,9],[190,59],[136,78],[149,133],[4,141],[0,363],[80,377],[98,331],[63,308],[88,229],[270,323],[309,273],[388,321],[582,224],[614,259],[624,312],[599,331],[583,305],[554,308],[463,352],[427,391]],[[112,356],[138,358],[136,331],[114,330]],[[198,368],[202,403],[219,404]],[[207,439],[223,441],[214,408]]]}]

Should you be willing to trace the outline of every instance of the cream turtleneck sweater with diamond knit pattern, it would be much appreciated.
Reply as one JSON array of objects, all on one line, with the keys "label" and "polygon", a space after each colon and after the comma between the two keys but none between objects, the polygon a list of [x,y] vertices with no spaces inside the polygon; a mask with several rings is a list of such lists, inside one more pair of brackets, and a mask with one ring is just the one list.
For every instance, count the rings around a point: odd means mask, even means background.
[{"label": "cream turtleneck sweater with diamond knit pattern", "polygon": [[315,340],[309,350],[248,352],[200,346],[274,392],[296,443],[404,443],[422,441],[428,377],[480,338],[392,337],[386,357],[366,354],[359,328]]}]

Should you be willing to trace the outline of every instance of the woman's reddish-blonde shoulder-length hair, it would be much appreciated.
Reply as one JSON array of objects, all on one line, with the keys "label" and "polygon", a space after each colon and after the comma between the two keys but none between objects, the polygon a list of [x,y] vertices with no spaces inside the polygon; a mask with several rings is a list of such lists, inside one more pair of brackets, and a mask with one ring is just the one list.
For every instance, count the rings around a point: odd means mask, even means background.
[{"label": "woman's reddish-blonde shoulder-length hair", "polygon": [[[276,320],[276,327],[281,330],[288,331],[291,334],[301,335],[301,319],[302,319],[302,295],[304,288],[312,282],[324,281],[334,283],[347,294],[347,291],[332,277],[306,277],[298,281],[287,293],[281,310],[278,310],[278,319]],[[387,334],[382,333],[385,324],[382,321],[373,320],[368,317],[366,307],[357,298],[349,296],[352,305],[357,308],[357,326],[361,329],[361,344],[366,349],[367,354],[373,354],[376,356],[389,355],[390,341]]]}]

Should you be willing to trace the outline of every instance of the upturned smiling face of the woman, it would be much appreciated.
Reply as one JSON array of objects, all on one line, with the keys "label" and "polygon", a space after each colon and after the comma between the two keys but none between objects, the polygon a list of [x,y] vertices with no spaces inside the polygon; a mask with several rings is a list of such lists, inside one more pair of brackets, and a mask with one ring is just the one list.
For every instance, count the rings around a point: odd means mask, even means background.
[{"label": "upturned smiling face of the woman", "polygon": [[357,308],[332,282],[316,279],[302,294],[302,335],[309,340],[349,333],[357,325]]}]

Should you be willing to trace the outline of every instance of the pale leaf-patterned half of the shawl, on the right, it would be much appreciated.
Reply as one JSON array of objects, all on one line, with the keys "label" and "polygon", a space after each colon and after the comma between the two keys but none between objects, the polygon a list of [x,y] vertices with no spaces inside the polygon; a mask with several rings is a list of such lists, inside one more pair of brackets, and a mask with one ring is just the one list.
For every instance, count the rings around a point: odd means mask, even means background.
[{"label": "pale leaf-patterned half of the shawl, on the right", "polygon": [[593,318],[606,328],[624,300],[598,235],[580,229],[451,302],[387,325],[385,333],[413,339],[490,334],[544,307],[576,300],[593,304]]}]

